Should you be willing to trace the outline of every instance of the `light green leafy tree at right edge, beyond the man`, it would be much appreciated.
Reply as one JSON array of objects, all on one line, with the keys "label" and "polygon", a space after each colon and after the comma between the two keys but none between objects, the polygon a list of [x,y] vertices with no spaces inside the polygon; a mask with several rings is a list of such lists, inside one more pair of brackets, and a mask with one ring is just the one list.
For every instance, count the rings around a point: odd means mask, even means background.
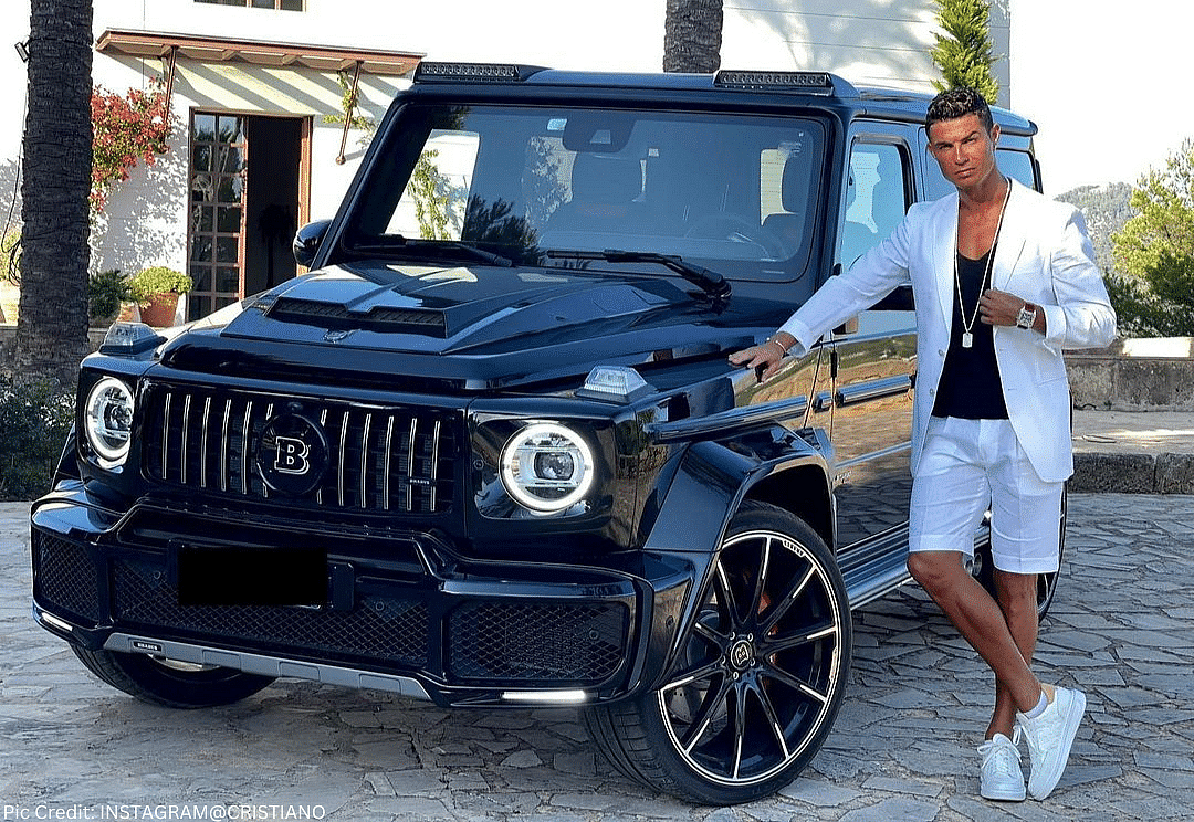
[{"label": "light green leafy tree at right edge, beyond the man", "polygon": [[1139,214],[1112,236],[1108,277],[1120,326],[1132,334],[1194,336],[1194,138],[1132,192]]}]

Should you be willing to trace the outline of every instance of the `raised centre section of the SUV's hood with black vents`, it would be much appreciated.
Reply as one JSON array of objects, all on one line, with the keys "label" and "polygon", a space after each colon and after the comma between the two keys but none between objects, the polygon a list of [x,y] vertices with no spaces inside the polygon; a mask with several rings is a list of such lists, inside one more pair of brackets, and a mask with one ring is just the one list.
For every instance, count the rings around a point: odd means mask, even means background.
[{"label": "raised centre section of the SUV's hood with black vents", "polygon": [[[224,330],[424,353],[500,353],[604,334],[693,298],[667,277],[503,267],[336,266],[291,280]],[[596,326],[596,328],[595,328]]]}]

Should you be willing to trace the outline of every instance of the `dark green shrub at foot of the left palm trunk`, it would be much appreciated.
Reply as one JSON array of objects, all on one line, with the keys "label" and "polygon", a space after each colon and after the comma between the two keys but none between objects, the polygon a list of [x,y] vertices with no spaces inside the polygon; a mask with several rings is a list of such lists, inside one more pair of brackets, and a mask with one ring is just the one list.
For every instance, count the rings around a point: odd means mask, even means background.
[{"label": "dark green shrub at foot of the left palm trunk", "polygon": [[0,500],[35,500],[50,487],[74,422],[74,394],[0,377]]}]

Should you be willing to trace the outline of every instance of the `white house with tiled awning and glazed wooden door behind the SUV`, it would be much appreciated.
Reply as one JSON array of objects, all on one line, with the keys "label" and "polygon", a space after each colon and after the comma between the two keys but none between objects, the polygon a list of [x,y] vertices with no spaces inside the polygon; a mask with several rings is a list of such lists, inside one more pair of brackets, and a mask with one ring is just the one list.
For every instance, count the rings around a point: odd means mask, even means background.
[{"label": "white house with tiled awning and glazed wooden door behind the SUV", "polygon": [[[726,4],[721,62],[931,91],[935,10],[933,0]],[[27,0],[6,2],[4,30],[19,39],[27,14]],[[665,0],[94,0],[94,82],[124,92],[160,79],[174,130],[171,150],[109,196],[91,265],[186,271],[196,286],[179,320],[269,288],[295,276],[295,228],[334,211],[368,142],[361,125],[383,115],[421,58],[654,72],[664,14]],[[996,54],[1008,54],[1009,29],[996,0]],[[5,51],[0,70],[23,74]],[[996,76],[1007,103],[1007,58]],[[24,82],[8,88],[8,110],[19,110]],[[350,91],[358,103],[346,123]],[[19,140],[0,130],[4,212],[17,196]]]}]

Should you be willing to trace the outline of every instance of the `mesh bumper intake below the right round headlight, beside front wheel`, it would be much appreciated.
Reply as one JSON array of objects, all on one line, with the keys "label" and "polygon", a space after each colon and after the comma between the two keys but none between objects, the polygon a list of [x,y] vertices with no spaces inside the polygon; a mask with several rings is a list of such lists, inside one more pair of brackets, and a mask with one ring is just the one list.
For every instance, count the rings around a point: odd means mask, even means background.
[{"label": "mesh bumper intake below the right round headlight, beside front wheel", "polygon": [[451,616],[453,680],[596,685],[626,650],[628,608],[620,602],[474,602]]}]

